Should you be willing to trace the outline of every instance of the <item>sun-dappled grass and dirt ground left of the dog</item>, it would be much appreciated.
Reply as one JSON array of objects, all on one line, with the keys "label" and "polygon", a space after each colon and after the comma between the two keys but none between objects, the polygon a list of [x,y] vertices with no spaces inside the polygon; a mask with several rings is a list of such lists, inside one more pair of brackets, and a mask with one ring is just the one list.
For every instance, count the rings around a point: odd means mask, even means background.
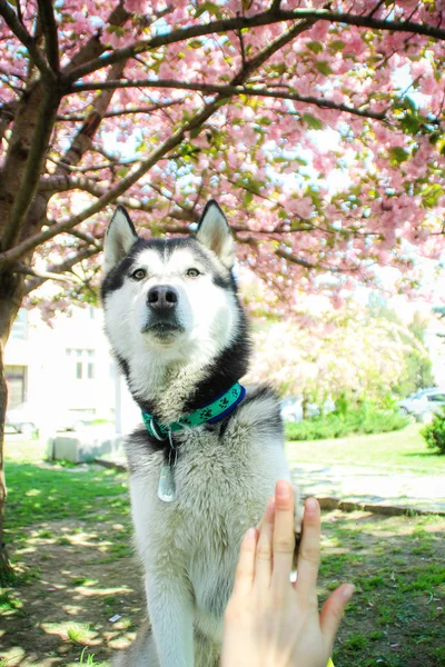
[{"label": "sun-dappled grass and dirt ground left of the dog", "polygon": [[93,664],[110,658],[144,606],[125,479],[46,464],[10,462],[7,472],[17,580],[0,594],[0,657],[8,667],[70,665],[87,647],[85,663],[88,653]]}]

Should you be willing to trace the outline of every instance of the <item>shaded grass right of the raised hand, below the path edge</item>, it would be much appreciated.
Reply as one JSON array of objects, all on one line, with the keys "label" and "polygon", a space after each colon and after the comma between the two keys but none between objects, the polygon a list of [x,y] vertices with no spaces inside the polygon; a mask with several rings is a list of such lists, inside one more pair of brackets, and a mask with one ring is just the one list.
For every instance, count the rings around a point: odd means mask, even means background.
[{"label": "shaded grass right of the raised hand, below the path edge", "polygon": [[[343,581],[356,586],[334,650],[336,667],[445,665],[444,530],[445,520],[434,516],[325,515],[322,596]],[[413,554],[419,542],[432,556]]]}]

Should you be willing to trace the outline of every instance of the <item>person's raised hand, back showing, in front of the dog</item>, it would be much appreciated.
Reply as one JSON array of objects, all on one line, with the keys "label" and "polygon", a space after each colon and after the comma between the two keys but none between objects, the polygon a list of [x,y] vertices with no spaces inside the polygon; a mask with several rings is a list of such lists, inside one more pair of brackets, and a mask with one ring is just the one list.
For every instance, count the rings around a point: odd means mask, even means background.
[{"label": "person's raised hand, back showing, in front of the dog", "polygon": [[320,510],[308,498],[303,519],[297,580],[290,583],[295,548],[294,492],[278,481],[259,530],[241,544],[224,624],[221,667],[326,667],[354,586],[339,586],[318,614]]}]

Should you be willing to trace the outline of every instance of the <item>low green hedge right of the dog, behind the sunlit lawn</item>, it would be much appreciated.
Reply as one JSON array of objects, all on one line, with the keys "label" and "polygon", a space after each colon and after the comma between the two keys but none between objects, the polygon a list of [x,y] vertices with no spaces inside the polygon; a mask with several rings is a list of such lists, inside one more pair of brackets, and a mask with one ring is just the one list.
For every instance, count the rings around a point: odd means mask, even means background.
[{"label": "low green hedge right of the dog, behind the sunlit lawn", "polygon": [[[352,434],[383,434],[405,428],[409,424],[395,410],[377,409],[369,405],[336,410],[325,417],[313,417],[285,425],[287,440],[326,440]],[[445,429],[444,429],[445,432]]]}]

